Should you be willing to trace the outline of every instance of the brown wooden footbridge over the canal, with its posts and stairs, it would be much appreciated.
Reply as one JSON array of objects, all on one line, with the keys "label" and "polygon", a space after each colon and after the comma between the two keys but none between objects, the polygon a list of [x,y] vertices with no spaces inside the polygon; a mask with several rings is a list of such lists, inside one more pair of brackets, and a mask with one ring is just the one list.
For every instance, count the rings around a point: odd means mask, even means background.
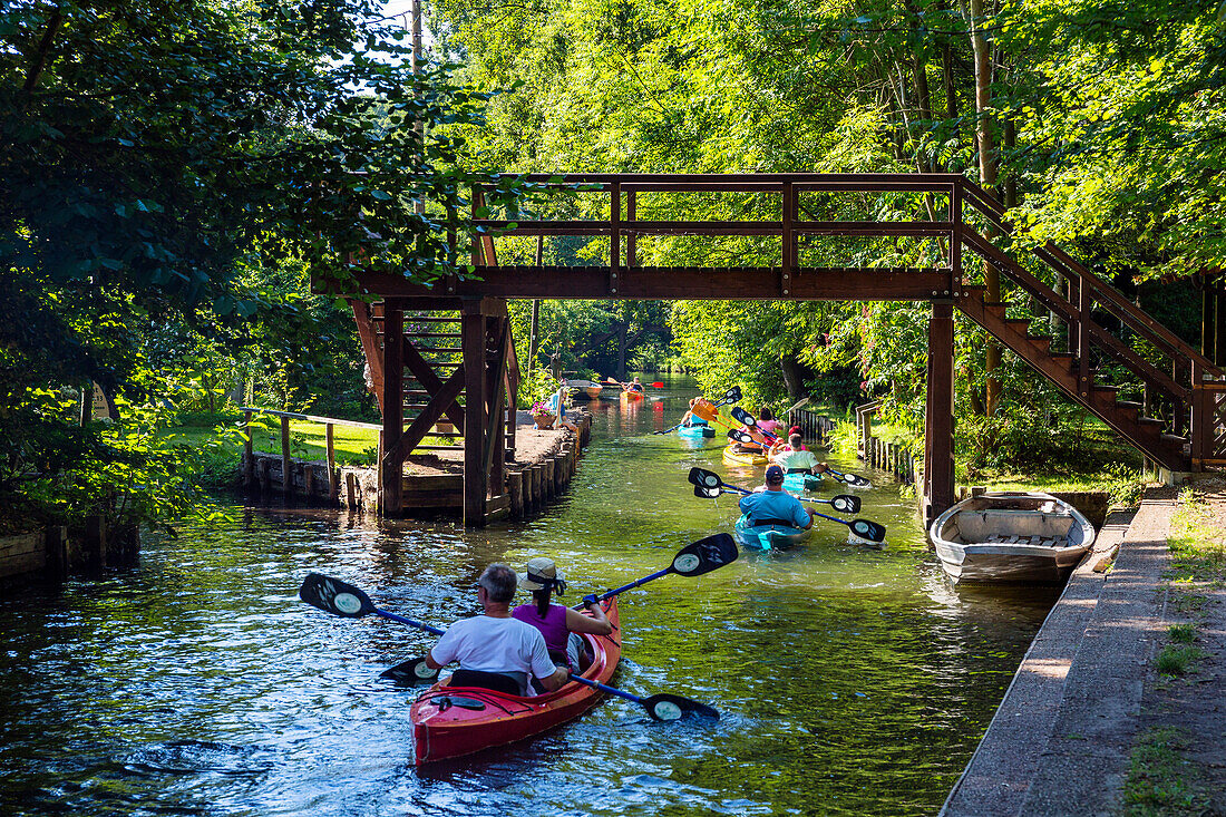
[{"label": "brown wooden footbridge over the canal, with its posts and stairs", "polygon": [[[503,464],[508,447],[514,450],[519,377],[506,298],[929,302],[923,474],[929,519],[954,501],[955,308],[1154,462],[1172,471],[1226,464],[1222,372],[1060,249],[1009,249],[1013,232],[1003,205],[961,175],[574,174],[527,179],[563,198],[600,196],[603,217],[474,218],[482,237],[472,242],[476,271],[465,280],[441,278],[425,287],[394,276],[358,275],[362,293],[380,299],[374,308],[354,302],[354,314],[384,412],[385,513],[402,507],[400,475],[406,455],[444,420],[454,429],[444,433],[463,438],[465,524],[484,524],[490,508],[503,502]],[[846,196],[904,202],[894,211],[905,215],[883,221],[820,217],[836,213],[839,200]],[[482,191],[473,190],[471,200],[476,217]],[[685,212],[702,200],[755,217],[658,218]],[[926,217],[915,220],[915,215]],[[592,239],[607,239],[607,251],[602,261],[582,266],[500,265],[493,234],[581,237],[588,247]],[[738,258],[770,258],[754,266],[640,263],[644,249],[657,255],[658,244],[652,242],[676,237],[706,237],[712,243],[731,238],[741,242]],[[931,265],[814,265],[814,259],[829,258],[820,249],[829,239],[878,242],[863,253],[866,258],[910,248],[912,258],[927,258]],[[1013,283],[1016,297],[1041,304],[1052,319],[1032,326],[1029,319],[1010,315],[1010,302],[988,301],[986,287],[976,282],[978,263],[996,267]],[[456,329],[432,331],[434,325]],[[1060,331],[1052,332],[1051,326]],[[1129,339],[1143,340],[1148,353],[1135,352]],[[440,357],[447,353],[452,357]],[[1097,383],[1098,368],[1107,362],[1128,369],[1144,385],[1143,401],[1118,400],[1118,389]]]}]

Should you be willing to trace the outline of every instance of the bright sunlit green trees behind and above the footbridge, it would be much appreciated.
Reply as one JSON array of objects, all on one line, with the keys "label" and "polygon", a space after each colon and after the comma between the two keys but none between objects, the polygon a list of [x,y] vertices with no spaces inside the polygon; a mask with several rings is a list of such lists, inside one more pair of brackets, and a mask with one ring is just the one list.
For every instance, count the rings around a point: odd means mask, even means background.
[{"label": "bright sunlit green trees behind and above the footbridge", "polygon": [[[1020,243],[1062,243],[1198,340],[1188,288],[1170,280],[1222,265],[1226,25],[1213,4],[444,0],[436,12],[438,37],[467,77],[514,87],[471,137],[499,168],[966,173],[1013,209]],[[547,206],[597,212],[595,201]],[[847,220],[931,218],[940,206],[897,194],[802,201],[814,217]],[[639,207],[644,218],[753,218],[777,201],[661,195]],[[544,253],[596,256],[603,240],[547,242]],[[939,251],[918,240],[801,247],[814,265],[926,265]],[[745,238],[639,243],[645,264],[777,253],[777,240]],[[1146,278],[1162,282],[1138,293]],[[1008,287],[1000,297],[1042,330],[1030,298]],[[752,402],[776,407],[881,397],[886,421],[918,433],[926,320],[912,304],[682,302],[671,325],[679,361],[711,390],[741,383]],[[1067,450],[1083,413],[997,357],[960,319],[960,447],[971,469]],[[1110,367],[1100,377],[1139,394]]]}]

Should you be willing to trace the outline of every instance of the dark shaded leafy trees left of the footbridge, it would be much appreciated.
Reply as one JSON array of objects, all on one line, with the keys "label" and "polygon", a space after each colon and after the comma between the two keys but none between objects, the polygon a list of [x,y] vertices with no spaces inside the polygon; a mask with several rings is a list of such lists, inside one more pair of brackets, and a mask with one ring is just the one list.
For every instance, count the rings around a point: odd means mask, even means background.
[{"label": "dark shaded leafy trees left of the footbridge", "polygon": [[[487,94],[414,75],[368,0],[17,0],[0,40],[0,507],[192,507],[191,453],[154,427],[248,384],[369,411],[352,316],[308,270],[463,274],[449,129]],[[91,383],[116,423],[80,423]]]}]

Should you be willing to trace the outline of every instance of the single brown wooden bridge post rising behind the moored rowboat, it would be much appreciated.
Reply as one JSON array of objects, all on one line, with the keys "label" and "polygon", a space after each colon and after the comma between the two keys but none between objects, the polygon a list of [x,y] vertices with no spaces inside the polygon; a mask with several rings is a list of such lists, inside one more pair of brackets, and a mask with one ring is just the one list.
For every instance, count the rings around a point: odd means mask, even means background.
[{"label": "single brown wooden bridge post rising behind the moored rowboat", "polygon": [[933,301],[928,319],[923,515],[931,524],[954,504],[954,302]]}]

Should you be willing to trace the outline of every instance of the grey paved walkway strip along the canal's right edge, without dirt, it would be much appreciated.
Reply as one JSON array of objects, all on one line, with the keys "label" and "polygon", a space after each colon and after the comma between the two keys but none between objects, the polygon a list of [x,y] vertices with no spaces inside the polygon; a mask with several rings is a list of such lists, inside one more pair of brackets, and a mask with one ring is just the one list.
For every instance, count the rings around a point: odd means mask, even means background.
[{"label": "grey paved walkway strip along the canal's right edge, without dirt", "polygon": [[[1175,489],[1112,514],[1056,602],[942,815],[1114,815],[1165,632]],[[1114,545],[1111,570],[1094,564]]]}]

